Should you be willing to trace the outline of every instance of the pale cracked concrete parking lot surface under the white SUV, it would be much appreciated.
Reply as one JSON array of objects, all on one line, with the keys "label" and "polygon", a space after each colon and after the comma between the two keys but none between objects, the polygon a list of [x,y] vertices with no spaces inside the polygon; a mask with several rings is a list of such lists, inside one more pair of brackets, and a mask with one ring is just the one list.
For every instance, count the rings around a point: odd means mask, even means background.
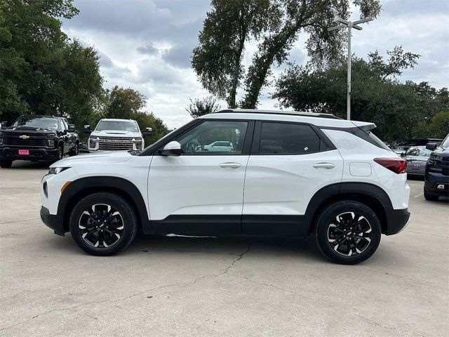
[{"label": "pale cracked concrete parking lot surface under the white SUV", "polygon": [[449,205],[420,180],[410,225],[346,266],[313,237],[139,235],[88,256],[41,223],[47,170],[0,169],[0,336],[448,336]]}]

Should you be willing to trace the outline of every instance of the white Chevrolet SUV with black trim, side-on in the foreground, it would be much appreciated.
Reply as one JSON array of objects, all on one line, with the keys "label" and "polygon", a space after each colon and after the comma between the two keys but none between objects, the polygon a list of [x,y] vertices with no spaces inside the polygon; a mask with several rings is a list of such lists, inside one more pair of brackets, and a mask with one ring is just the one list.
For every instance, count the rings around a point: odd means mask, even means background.
[{"label": "white Chevrolet SUV with black trim, side-on in the foreground", "polygon": [[[369,258],[408,223],[406,161],[372,123],[223,110],[145,150],[62,159],[42,179],[43,223],[93,255],[145,234],[315,234],[337,263]],[[232,151],[206,146],[232,143]]]}]

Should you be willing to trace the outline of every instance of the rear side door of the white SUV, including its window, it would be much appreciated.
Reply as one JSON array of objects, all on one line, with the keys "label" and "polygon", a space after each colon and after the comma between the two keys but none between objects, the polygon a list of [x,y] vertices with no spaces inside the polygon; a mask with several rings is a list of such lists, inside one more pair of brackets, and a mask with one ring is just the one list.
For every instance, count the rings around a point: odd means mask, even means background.
[{"label": "rear side door of the white SUV, including its window", "polygon": [[246,168],[243,234],[304,234],[311,197],[340,183],[342,173],[340,152],[319,128],[258,121]]}]

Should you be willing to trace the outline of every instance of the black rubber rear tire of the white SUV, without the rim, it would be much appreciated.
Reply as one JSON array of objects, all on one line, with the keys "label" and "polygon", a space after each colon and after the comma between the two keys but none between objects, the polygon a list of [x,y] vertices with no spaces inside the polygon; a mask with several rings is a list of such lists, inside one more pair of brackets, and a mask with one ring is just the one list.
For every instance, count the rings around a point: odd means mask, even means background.
[{"label": "black rubber rear tire of the white SUV, without the rim", "polygon": [[[330,242],[328,242],[328,225],[333,222],[333,219],[335,219],[336,216],[347,212],[354,212],[364,216],[370,223],[373,233],[368,248],[355,256],[343,256],[342,254],[337,253],[330,245]],[[319,249],[326,258],[335,263],[354,265],[363,262],[375,253],[377,246],[380,244],[382,230],[379,218],[377,218],[376,214],[368,206],[357,201],[340,201],[328,206],[328,208],[321,213],[316,225],[315,234]]]}]

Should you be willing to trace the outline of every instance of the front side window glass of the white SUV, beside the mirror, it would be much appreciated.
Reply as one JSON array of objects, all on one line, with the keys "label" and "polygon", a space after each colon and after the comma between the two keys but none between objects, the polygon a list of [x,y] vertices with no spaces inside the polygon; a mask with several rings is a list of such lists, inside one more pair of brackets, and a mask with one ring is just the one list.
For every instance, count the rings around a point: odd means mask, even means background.
[{"label": "front side window glass of the white SUV, beside the mirror", "polygon": [[247,121],[204,121],[176,139],[182,154],[241,154]]}]

